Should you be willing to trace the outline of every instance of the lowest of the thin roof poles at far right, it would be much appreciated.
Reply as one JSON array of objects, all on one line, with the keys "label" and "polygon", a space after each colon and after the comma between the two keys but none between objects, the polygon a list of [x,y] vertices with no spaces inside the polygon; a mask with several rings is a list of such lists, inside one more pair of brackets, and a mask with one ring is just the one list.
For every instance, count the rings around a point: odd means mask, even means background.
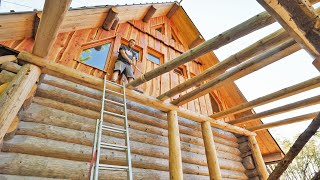
[{"label": "lowest of the thin roof poles at far right", "polygon": [[288,124],[292,124],[292,123],[297,123],[297,122],[301,122],[301,121],[307,121],[307,120],[315,118],[318,114],[319,114],[319,112],[309,113],[309,114],[305,114],[305,115],[301,115],[301,116],[296,116],[296,117],[292,117],[292,118],[288,118],[288,119],[275,121],[272,123],[261,124],[258,126],[250,127],[250,128],[248,128],[248,130],[261,131],[264,129],[270,129],[270,128],[288,125]]}]

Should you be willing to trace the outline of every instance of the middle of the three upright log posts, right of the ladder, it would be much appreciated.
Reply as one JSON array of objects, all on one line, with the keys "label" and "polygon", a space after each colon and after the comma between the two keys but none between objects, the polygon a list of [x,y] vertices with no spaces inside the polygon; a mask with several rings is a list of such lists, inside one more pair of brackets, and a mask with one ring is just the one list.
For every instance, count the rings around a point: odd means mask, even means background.
[{"label": "middle of the three upright log posts, right of the ladder", "polygon": [[204,142],[204,147],[206,150],[207,164],[210,174],[210,179],[220,180],[221,172],[217,157],[216,147],[213,141],[212,129],[209,121],[201,123],[202,137]]}]

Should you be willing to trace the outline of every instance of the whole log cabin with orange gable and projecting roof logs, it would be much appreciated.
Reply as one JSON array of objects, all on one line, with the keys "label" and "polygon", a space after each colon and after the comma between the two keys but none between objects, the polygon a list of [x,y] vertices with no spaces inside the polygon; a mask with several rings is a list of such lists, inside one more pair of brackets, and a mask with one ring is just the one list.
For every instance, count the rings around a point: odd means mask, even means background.
[{"label": "whole log cabin with orange gable and projecting roof logs", "polygon": [[[271,10],[207,41],[177,2],[70,8],[71,0],[46,0],[43,11],[0,14],[0,177],[89,178],[103,78],[111,78],[120,46],[135,39],[136,79],[118,80],[127,87],[133,179],[267,179],[265,164],[284,158],[267,129],[317,113],[271,125],[260,119],[320,100],[316,96],[257,114],[252,108],[319,87],[320,78],[250,102],[234,81],[301,47],[317,57],[319,41],[313,40],[317,34],[304,36],[307,29],[287,22],[219,60],[213,50],[285,17],[273,12],[274,4],[258,1]],[[279,13],[290,13],[285,3],[281,6]],[[112,103],[104,110],[123,113]],[[112,115],[103,120],[124,125]],[[124,136],[106,132],[102,138],[119,145]],[[124,166],[125,153],[102,150],[100,162]],[[99,178],[126,179],[127,173],[101,171]]]}]

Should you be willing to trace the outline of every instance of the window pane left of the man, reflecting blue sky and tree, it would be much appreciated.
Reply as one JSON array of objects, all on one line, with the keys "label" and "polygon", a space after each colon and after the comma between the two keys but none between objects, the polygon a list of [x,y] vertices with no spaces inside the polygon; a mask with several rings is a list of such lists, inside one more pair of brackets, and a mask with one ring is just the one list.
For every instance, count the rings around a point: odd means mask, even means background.
[{"label": "window pane left of the man, reflecting blue sky and tree", "polygon": [[80,62],[103,70],[106,63],[111,43],[92,47],[82,51]]}]

